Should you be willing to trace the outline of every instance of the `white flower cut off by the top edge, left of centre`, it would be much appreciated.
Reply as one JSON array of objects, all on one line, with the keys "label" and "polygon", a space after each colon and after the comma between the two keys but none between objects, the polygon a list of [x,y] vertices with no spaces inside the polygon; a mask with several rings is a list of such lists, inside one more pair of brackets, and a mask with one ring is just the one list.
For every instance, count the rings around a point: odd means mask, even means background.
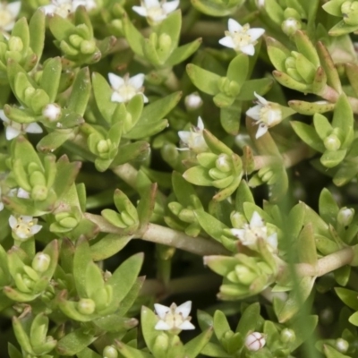
[{"label": "white flower cut off by the top edge, left of centre", "polygon": [[179,6],[179,0],[166,3],[165,0],[143,0],[141,6],[133,6],[132,9],[141,16],[148,18],[149,21],[158,23],[166,19],[168,13],[172,13]]}]

